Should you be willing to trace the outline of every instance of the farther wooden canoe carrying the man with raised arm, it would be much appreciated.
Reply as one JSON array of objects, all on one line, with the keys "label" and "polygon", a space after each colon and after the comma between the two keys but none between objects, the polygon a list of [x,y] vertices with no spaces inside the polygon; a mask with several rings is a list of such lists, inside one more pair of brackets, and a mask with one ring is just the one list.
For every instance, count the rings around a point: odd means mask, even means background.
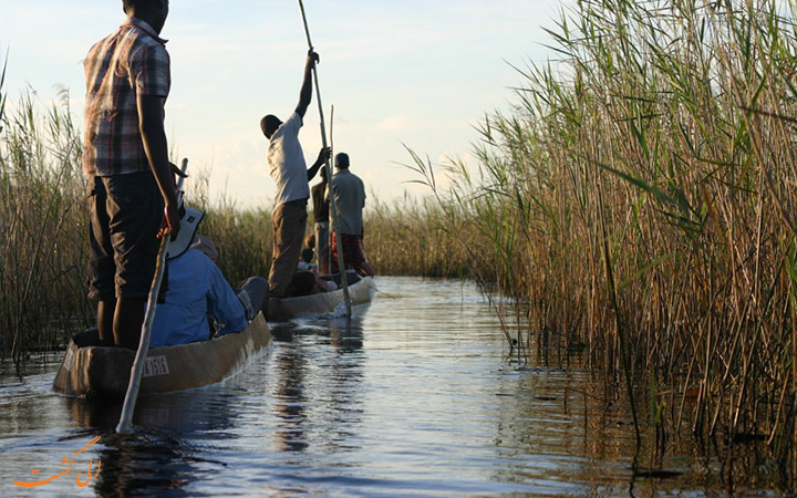
[{"label": "farther wooden canoe carrying the man with raised arm", "polygon": [[[352,305],[371,302],[376,288],[373,278],[359,278],[349,273],[349,295]],[[358,280],[359,279],[359,280]],[[343,303],[343,289],[296,298],[269,299],[269,321],[291,320],[301,317],[320,317],[332,313]]]}]

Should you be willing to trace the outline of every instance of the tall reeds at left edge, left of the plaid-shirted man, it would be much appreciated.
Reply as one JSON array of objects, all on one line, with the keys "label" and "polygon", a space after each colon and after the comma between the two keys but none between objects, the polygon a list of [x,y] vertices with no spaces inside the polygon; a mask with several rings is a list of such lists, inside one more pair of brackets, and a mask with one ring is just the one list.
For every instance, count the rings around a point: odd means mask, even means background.
[{"label": "tall reeds at left edge, left of the plaid-shirted man", "polygon": [[41,115],[32,91],[0,115],[0,343],[19,364],[84,326],[81,141],[69,98]]}]

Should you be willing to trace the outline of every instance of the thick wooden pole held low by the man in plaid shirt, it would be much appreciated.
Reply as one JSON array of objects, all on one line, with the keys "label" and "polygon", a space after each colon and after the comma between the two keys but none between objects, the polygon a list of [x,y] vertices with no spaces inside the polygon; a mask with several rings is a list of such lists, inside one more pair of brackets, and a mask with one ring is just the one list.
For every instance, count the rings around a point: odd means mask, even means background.
[{"label": "thick wooden pole held low by the man in plaid shirt", "polygon": [[[183,159],[180,166],[183,174],[185,175],[188,169],[188,159]],[[179,204],[180,197],[183,196],[183,180],[185,177],[180,176],[177,180],[177,204]],[[147,350],[149,350],[149,338],[152,336],[152,325],[155,321],[155,308],[157,308],[157,295],[161,290],[161,282],[163,281],[164,269],[166,268],[166,253],[168,252],[168,246],[172,237],[166,234],[161,240],[161,250],[158,250],[157,267],[155,268],[155,278],[153,279],[152,288],[149,289],[149,298],[147,299],[147,310],[144,315],[144,323],[142,324],[142,336],[138,341],[138,351],[136,351],[136,357],[133,361],[133,367],[131,369],[131,381],[127,384],[127,393],[125,394],[125,402],[122,406],[122,416],[120,423],[116,426],[116,432],[125,434],[131,430],[133,425],[133,411],[135,409],[135,402],[138,398],[138,387],[141,386],[141,377],[144,372],[144,361],[146,360]]]}]

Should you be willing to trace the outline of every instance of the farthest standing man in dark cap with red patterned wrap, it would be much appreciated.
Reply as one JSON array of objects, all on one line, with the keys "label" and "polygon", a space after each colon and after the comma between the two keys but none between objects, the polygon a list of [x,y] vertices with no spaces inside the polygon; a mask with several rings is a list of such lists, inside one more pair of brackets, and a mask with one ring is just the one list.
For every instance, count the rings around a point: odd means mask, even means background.
[{"label": "farthest standing man in dark cap with red patterned wrap", "polygon": [[[335,154],[338,172],[330,181],[330,190],[338,207],[338,218],[332,220],[332,271],[338,272],[338,250],[343,246],[343,263],[362,276],[373,277],[374,270],[365,260],[362,248],[362,209],[365,207],[365,187],[359,176],[349,170],[349,155]],[[337,224],[337,225],[335,225]],[[341,240],[338,241],[337,235]]]}]

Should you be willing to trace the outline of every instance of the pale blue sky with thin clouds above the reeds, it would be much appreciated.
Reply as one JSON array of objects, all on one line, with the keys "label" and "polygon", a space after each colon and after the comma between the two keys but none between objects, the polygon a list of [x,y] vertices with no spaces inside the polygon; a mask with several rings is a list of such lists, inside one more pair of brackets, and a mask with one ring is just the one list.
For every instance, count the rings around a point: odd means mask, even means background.
[{"label": "pale blue sky with thin clouds above the reeds", "polygon": [[[406,147],[434,164],[469,153],[487,114],[506,111],[522,76],[513,69],[555,56],[545,46],[558,0],[306,0],[321,56],[319,87],[335,152],[370,196],[427,194],[402,164]],[[82,127],[89,48],[125,20],[121,0],[0,0],[0,66],[9,106],[27,87],[43,104],[66,87]],[[174,159],[210,177],[210,194],[270,207],[276,191],[259,128],[299,100],[307,39],[290,0],[172,0],[172,91],[166,132]],[[8,51],[8,58],[6,53]],[[331,106],[334,121],[330,123]],[[321,147],[318,101],[300,134],[308,164]],[[315,183],[317,180],[313,180]]]}]

